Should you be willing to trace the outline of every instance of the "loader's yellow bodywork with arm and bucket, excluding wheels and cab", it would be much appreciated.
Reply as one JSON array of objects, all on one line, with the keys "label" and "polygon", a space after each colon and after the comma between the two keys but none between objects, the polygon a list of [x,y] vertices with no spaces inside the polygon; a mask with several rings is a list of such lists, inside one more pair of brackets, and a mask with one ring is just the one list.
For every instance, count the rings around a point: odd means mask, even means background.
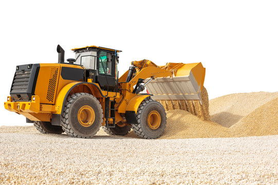
[{"label": "loader's yellow bodywork with arm and bucket, excluding wheels and cab", "polygon": [[[73,50],[76,49],[82,48]],[[98,49],[107,48],[99,47]],[[115,50],[116,52],[120,51]],[[157,66],[149,60],[142,60],[132,62],[132,65],[136,71],[132,74],[131,80],[126,81],[129,72],[127,70],[118,79],[118,90],[107,91],[105,88],[101,88],[98,83],[94,83],[94,79],[84,76],[85,68],[82,65],[36,64],[38,73],[36,73],[34,84],[30,87],[32,88],[32,95],[28,95],[31,100],[12,94],[14,89],[24,86],[14,87],[21,81],[20,79],[24,79],[22,77],[29,74],[28,70],[18,68],[11,88],[11,96],[8,96],[4,106],[7,110],[21,114],[30,121],[46,121],[53,125],[59,125],[54,120],[61,120],[67,97],[76,93],[87,93],[99,100],[103,113],[105,112],[105,98],[114,100],[116,124],[119,122],[129,124],[126,122],[124,114],[136,114],[140,103],[151,95],[155,100],[200,100],[199,95],[206,71],[201,63],[168,63],[165,66]],[[27,66],[25,67],[27,69]],[[71,72],[72,69],[79,72]],[[145,85],[151,95],[134,92],[134,86],[137,85],[139,79],[144,79],[146,82],[151,78],[153,80]],[[113,120],[108,118],[108,122],[112,123]],[[103,118],[102,125],[104,124],[105,118]]]}]

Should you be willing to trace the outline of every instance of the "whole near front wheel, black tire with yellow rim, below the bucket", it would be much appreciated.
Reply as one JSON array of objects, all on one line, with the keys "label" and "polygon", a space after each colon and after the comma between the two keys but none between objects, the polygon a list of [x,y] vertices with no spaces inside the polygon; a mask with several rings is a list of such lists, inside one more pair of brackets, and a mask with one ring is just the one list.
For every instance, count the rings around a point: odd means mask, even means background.
[{"label": "whole near front wheel, black tire with yellow rim, below the bucket", "polygon": [[158,101],[145,99],[137,110],[138,124],[132,124],[135,134],[143,139],[159,138],[166,126],[165,109]]}]

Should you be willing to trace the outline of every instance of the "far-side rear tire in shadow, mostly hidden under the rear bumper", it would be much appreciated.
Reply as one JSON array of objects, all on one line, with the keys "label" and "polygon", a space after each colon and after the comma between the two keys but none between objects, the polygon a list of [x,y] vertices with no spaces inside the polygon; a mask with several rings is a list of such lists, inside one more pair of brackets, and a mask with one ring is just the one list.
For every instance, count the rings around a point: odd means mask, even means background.
[{"label": "far-side rear tire in shadow, mostly hidden under the rear bumper", "polygon": [[34,126],[42,134],[62,134],[62,126],[51,125],[50,122],[34,121]]}]

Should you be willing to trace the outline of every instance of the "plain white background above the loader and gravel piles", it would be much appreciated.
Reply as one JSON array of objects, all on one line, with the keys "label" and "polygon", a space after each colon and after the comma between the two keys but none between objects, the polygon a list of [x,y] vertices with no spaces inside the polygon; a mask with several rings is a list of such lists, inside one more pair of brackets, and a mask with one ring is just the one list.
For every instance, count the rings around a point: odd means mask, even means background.
[{"label": "plain white background above the loader and gravel piles", "polygon": [[[0,100],[15,66],[57,63],[57,44],[70,50],[123,50],[120,75],[131,61],[202,62],[209,98],[277,91],[277,1],[3,1],[0,7]],[[0,125],[25,117],[1,106]],[[30,124],[28,124],[30,125]]]}]

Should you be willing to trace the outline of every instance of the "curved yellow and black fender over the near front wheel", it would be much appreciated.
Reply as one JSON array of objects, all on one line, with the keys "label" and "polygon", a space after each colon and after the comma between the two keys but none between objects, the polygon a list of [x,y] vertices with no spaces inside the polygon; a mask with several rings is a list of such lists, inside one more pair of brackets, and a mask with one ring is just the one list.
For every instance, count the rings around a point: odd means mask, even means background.
[{"label": "curved yellow and black fender over the near front wheel", "polygon": [[138,124],[136,114],[144,99],[151,98],[151,95],[137,95],[129,101],[125,108],[125,119],[128,124]]}]

